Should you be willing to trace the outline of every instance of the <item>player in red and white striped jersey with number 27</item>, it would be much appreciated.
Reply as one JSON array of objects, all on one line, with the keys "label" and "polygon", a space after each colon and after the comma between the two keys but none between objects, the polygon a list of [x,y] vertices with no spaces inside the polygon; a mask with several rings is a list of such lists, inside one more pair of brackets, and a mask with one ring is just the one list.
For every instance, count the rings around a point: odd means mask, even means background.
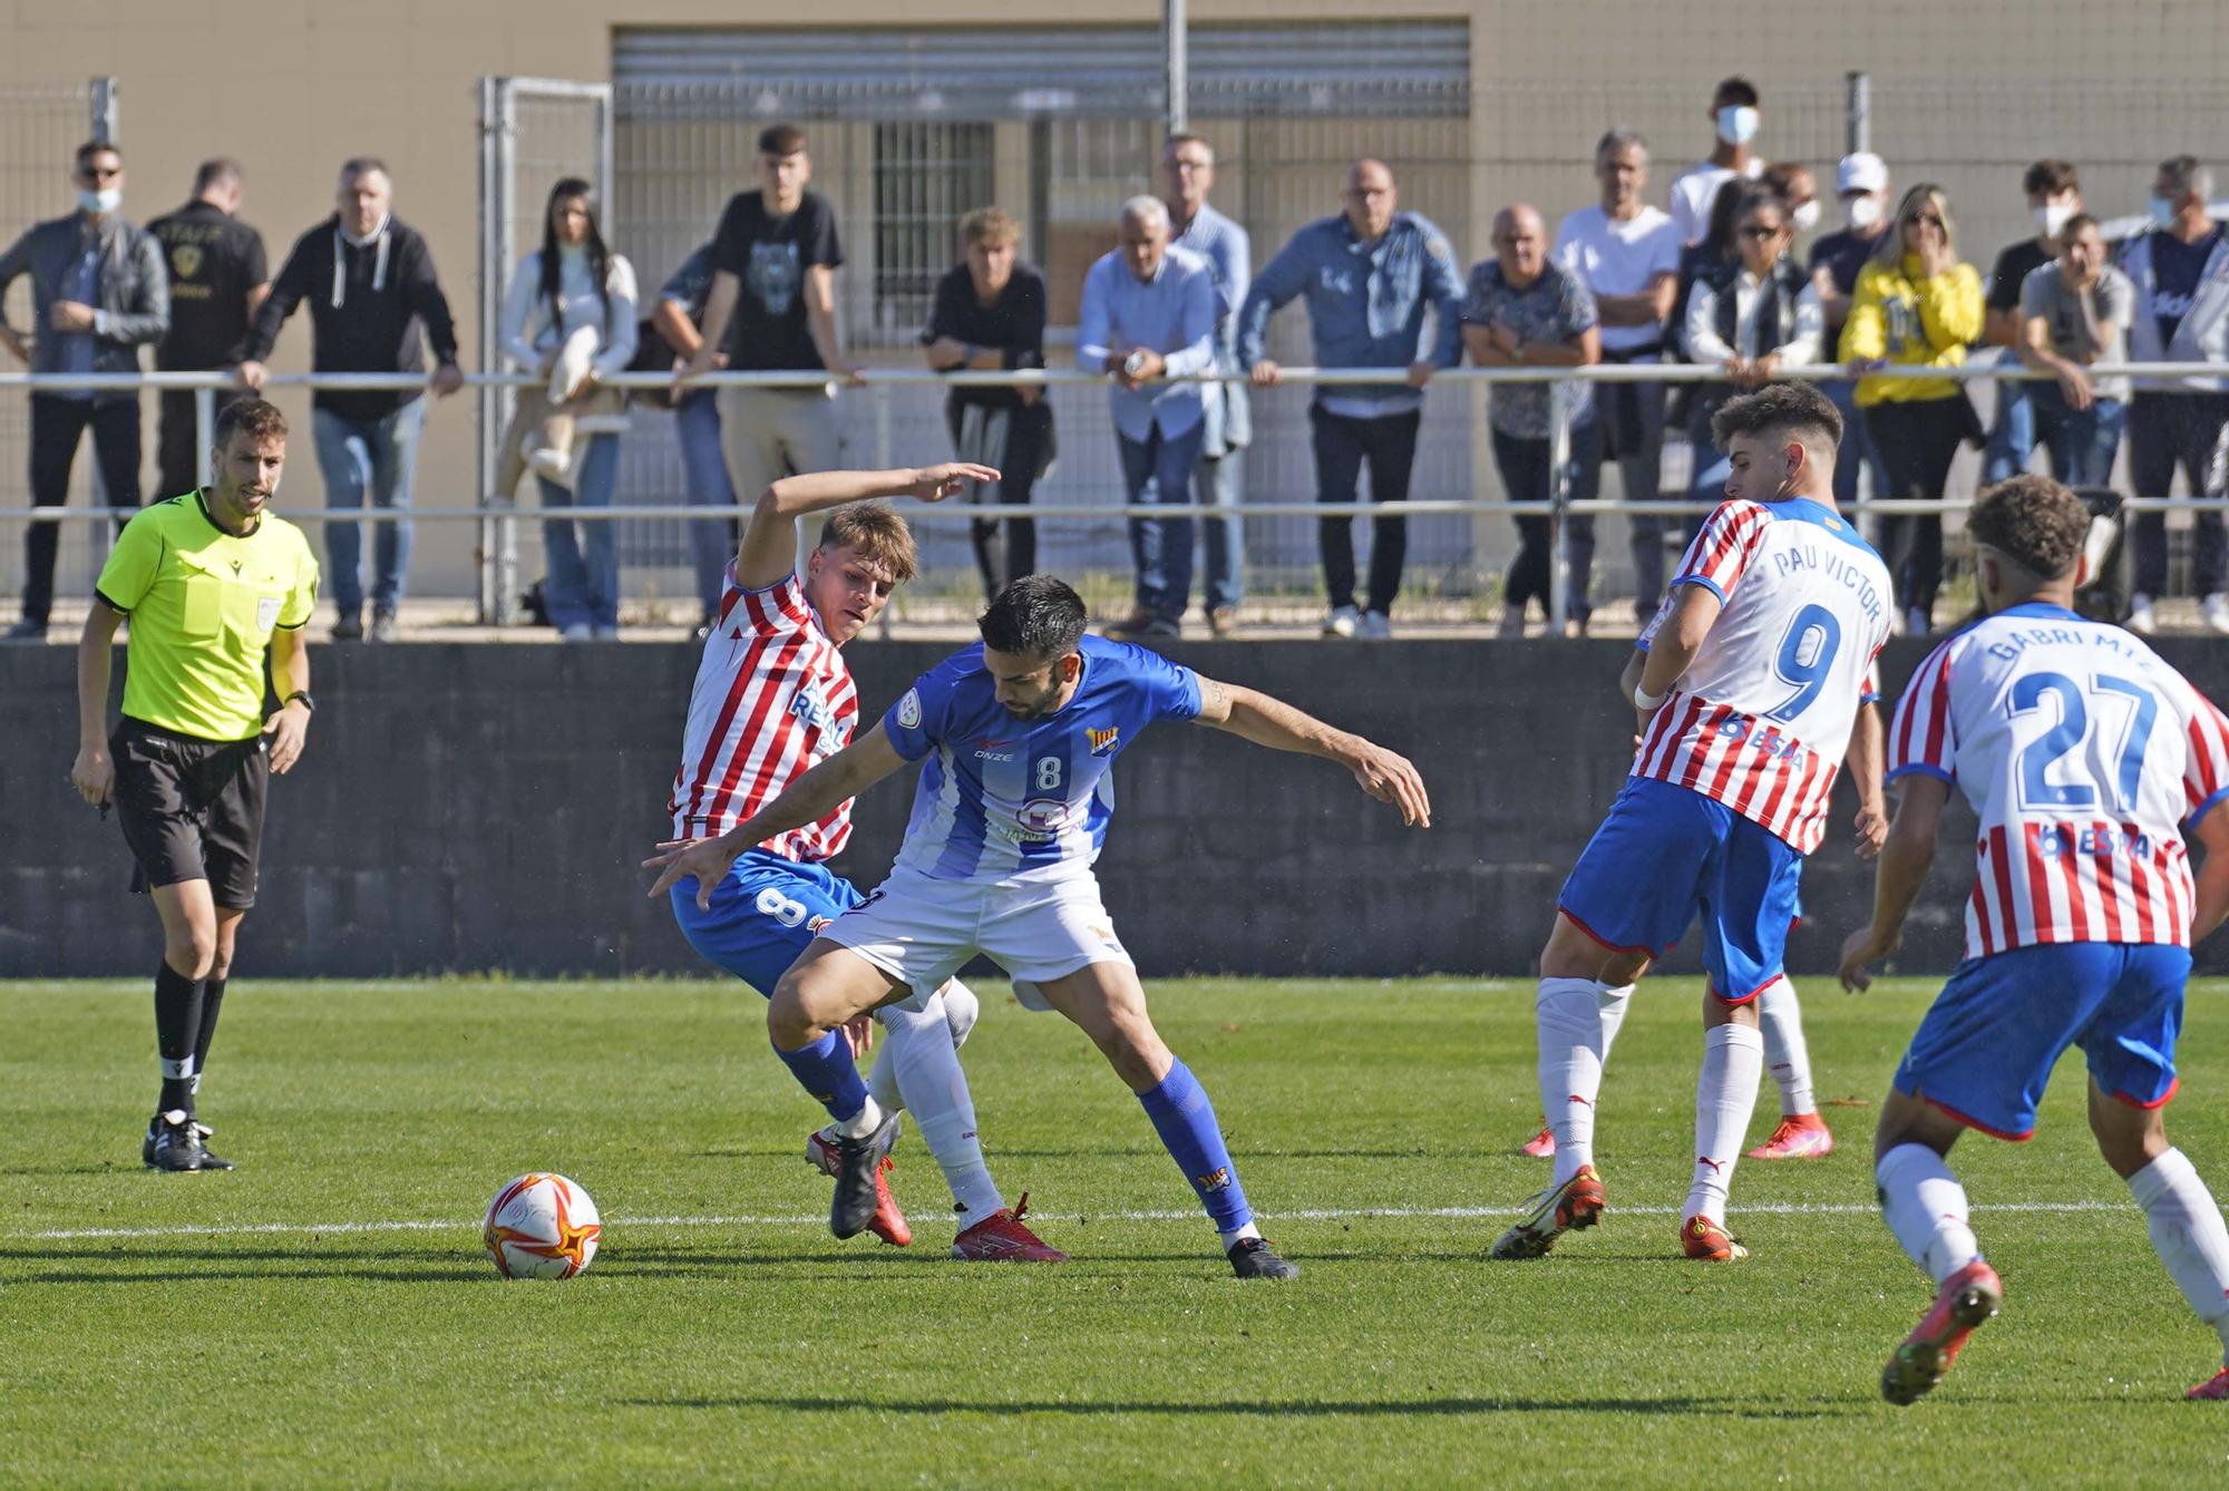
[{"label": "player in red and white striped jersey with number 27", "polygon": [[[2069,1045],[2089,1056],[2097,1148],[2229,1360],[2229,1228],[2160,1114],[2189,947],[2229,916],[2229,720],[2144,642],[2073,613],[2089,522],[2044,477],[1982,493],[1966,530],[1988,615],[1928,653],[1890,729],[1901,800],[1872,923],[1843,943],[1848,987],[1897,949],[1953,782],[1982,820],[1966,961],[1875,1137],[1881,1215],[1937,1286],[1881,1373],[1890,1402],[1930,1391],[2004,1297],[1944,1157],[1966,1128],[2033,1134]],[[2187,838],[2204,847],[2196,878]],[[2229,1397],[2229,1366],[2191,1397]]]}]

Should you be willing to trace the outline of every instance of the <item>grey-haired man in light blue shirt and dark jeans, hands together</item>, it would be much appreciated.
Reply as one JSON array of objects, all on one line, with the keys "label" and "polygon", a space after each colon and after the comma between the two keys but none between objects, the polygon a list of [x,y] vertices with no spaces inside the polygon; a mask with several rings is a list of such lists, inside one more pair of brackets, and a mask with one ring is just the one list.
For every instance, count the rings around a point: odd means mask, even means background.
[{"label": "grey-haired man in light blue shirt and dark jeans, hands together", "polygon": [[[1206,259],[1168,247],[1168,207],[1159,196],[1121,205],[1119,243],[1083,276],[1077,366],[1114,379],[1108,401],[1130,501],[1143,501],[1150,481],[1164,506],[1186,506],[1208,437],[1208,406],[1221,399],[1219,383],[1186,381],[1215,368],[1215,272]],[[1137,604],[1106,633],[1179,635],[1193,591],[1193,519],[1132,517],[1130,557]]]}]

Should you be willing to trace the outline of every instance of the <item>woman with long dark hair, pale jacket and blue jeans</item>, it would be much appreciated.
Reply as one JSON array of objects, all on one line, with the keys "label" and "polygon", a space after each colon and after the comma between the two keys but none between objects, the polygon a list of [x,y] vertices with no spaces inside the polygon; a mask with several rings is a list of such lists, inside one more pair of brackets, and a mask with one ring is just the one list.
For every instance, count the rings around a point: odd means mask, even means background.
[{"label": "woman with long dark hair, pale jacket and blue jeans", "polygon": [[[568,370],[568,388],[551,406],[559,415],[577,412],[600,379],[633,361],[635,270],[604,247],[595,187],[586,181],[566,176],[551,187],[542,247],[510,274],[499,334],[504,354],[519,368],[539,374],[555,374],[559,366]],[[522,392],[522,399],[535,397],[539,390]],[[537,450],[531,461],[544,508],[606,508],[620,475],[620,437],[582,423],[568,450]],[[551,479],[553,472],[571,490]],[[577,533],[582,528],[584,535]],[[611,524],[544,522],[542,550],[548,559],[544,604],[559,635],[568,642],[617,637],[620,555]]]}]

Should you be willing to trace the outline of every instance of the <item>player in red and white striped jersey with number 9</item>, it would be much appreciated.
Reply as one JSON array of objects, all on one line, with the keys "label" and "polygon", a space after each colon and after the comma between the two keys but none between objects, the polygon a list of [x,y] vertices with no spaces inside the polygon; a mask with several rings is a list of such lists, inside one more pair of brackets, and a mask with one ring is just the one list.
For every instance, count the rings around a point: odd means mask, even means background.
[{"label": "player in red and white striped jersey with number 9", "polygon": [[1632,978],[1678,945],[1698,912],[1710,992],[1681,1248],[1745,1257],[1725,1232],[1725,1199],[1763,1074],[1754,1005],[1785,990],[1803,856],[1826,836],[1846,753],[1857,764],[1861,851],[1881,829],[1870,671],[1888,640],[1890,584],[1834,513],[1841,415],[1814,388],[1777,383],[1727,401],[1712,432],[1732,461],[1730,501],[1687,548],[1627,666],[1641,751],[1565,880],[1540,954],[1540,1105],[1556,1177],[1493,1257],[1540,1257],[1600,1217],[1603,1061]]}]

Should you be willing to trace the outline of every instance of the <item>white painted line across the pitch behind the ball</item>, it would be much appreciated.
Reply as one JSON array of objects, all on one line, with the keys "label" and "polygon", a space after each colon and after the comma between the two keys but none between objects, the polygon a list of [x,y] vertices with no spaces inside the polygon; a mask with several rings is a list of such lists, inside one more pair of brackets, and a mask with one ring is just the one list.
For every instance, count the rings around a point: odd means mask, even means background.
[{"label": "white painted line across the pitch behind the ball", "polygon": [[[1513,1217],[1518,1206],[1317,1206],[1264,1217],[1277,1221],[1402,1221],[1402,1219],[1447,1219],[1471,1221],[1482,1217]],[[1814,1203],[1814,1201],[1759,1201],[1756,1206],[1732,1208],[1736,1217],[1870,1217],[1875,1206]],[[1997,1206],[1975,1206],[1977,1212],[2120,1212],[2133,1210],[2126,1201],[2002,1201]],[[1674,1217],[1676,1206],[1618,1206],[1612,1217]],[[1123,1212],[1032,1212],[1048,1221],[1201,1221],[1197,1210],[1123,1210]],[[791,1217],[606,1217],[611,1228],[796,1228],[827,1226],[825,1215]],[[207,1226],[172,1228],[65,1228],[56,1232],[16,1232],[16,1241],[82,1241],[98,1237],[256,1237],[292,1232],[468,1232],[477,1221],[212,1221]]]}]

